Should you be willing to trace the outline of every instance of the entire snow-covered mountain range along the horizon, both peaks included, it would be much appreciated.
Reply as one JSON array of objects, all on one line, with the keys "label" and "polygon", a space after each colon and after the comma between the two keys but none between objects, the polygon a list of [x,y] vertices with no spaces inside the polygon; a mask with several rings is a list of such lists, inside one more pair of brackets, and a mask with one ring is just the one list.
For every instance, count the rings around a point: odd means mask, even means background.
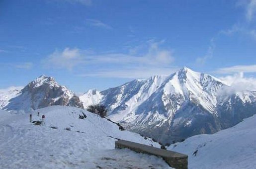
[{"label": "entire snow-covered mountain range along the horizon, both peaks included", "polygon": [[127,130],[172,143],[218,132],[256,114],[256,91],[230,92],[231,88],[184,67],[170,76],[133,80],[103,91],[91,89],[78,97],[52,77],[41,76],[22,89],[0,91],[0,109],[102,104],[108,118]]}]

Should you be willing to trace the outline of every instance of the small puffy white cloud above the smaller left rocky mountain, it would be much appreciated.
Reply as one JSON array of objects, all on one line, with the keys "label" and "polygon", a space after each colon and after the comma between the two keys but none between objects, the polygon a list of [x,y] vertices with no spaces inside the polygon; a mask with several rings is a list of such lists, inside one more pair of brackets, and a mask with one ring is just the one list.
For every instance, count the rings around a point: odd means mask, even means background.
[{"label": "small puffy white cloud above the smaller left rocky mountain", "polygon": [[46,68],[58,68],[72,70],[73,67],[83,63],[80,50],[78,48],[66,48],[62,52],[55,50],[42,64]]}]

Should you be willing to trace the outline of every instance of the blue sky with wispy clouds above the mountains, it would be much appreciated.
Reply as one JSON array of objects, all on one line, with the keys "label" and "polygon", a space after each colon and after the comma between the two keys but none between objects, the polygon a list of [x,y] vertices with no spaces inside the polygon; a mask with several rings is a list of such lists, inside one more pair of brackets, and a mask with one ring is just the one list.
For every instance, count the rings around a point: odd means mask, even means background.
[{"label": "blue sky with wispy clouds above the mountains", "polygon": [[0,88],[46,75],[83,93],[183,66],[256,90],[256,0],[0,0]]}]

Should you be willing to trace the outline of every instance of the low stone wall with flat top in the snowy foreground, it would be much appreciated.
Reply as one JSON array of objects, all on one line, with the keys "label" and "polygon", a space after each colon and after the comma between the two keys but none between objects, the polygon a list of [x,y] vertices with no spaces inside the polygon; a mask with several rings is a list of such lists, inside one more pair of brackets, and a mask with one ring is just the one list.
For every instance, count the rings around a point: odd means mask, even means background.
[{"label": "low stone wall with flat top in the snowy foreground", "polygon": [[128,148],[138,153],[145,153],[162,157],[172,168],[187,169],[187,155],[172,152],[169,150],[159,149],[144,144],[134,143],[126,140],[118,140],[115,142],[116,149]]}]

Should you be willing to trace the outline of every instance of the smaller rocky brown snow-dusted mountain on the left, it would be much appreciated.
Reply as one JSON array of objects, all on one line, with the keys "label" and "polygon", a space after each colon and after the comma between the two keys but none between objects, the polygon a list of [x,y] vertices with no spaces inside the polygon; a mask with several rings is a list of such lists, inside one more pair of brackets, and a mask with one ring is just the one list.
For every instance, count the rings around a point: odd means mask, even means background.
[{"label": "smaller rocky brown snow-dusted mountain on the left", "polygon": [[52,77],[40,76],[27,84],[20,91],[14,90],[4,101],[1,108],[4,110],[31,110],[51,105],[69,105],[83,107],[79,97],[67,87],[59,85]]}]

